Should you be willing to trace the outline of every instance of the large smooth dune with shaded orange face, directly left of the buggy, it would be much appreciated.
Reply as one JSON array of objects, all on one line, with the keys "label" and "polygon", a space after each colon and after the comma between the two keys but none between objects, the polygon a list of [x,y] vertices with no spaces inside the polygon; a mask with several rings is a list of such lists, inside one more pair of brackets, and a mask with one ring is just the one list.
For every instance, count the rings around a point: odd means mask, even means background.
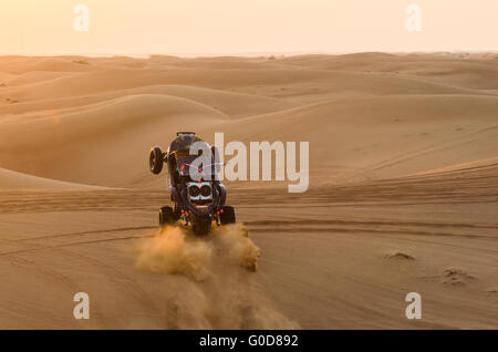
[{"label": "large smooth dune with shaded orange face, directly left of the buggy", "polygon": [[[129,95],[89,106],[85,112],[8,123],[0,127],[0,154],[3,165],[17,170],[120,186],[120,175],[129,182],[143,173],[143,155],[151,143],[164,141],[165,130],[181,128],[187,121],[203,125],[226,118],[212,107],[180,97]],[[27,130],[32,133],[24,134]],[[11,141],[12,134],[19,137]]]}]

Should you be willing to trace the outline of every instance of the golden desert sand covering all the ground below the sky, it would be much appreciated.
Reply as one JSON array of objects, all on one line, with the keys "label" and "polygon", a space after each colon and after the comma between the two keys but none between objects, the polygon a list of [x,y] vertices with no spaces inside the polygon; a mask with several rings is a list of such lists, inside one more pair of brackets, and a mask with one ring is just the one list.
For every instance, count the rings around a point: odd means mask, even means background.
[{"label": "golden desert sand covering all the ground below the sky", "polygon": [[[310,188],[159,235],[185,130],[309,141]],[[0,329],[498,329],[498,54],[0,56]]]}]

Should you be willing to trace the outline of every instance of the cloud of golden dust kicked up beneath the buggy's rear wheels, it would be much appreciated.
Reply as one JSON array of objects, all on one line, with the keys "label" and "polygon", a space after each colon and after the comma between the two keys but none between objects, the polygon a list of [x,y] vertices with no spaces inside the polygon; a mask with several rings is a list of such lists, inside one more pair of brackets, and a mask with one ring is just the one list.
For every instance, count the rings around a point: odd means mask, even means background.
[{"label": "cloud of golden dust kicked up beneath the buggy's rear wheels", "polygon": [[139,245],[136,268],[176,278],[169,329],[297,329],[256,280],[261,251],[243,224],[196,237],[172,226]]}]

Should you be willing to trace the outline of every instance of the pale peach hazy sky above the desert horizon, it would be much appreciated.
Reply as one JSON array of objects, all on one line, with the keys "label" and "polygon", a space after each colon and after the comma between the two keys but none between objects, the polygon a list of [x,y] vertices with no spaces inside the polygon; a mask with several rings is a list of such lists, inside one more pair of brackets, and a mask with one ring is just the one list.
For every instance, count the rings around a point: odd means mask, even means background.
[{"label": "pale peach hazy sky above the desert horizon", "polygon": [[498,0],[0,0],[0,54],[456,50],[498,50]]}]

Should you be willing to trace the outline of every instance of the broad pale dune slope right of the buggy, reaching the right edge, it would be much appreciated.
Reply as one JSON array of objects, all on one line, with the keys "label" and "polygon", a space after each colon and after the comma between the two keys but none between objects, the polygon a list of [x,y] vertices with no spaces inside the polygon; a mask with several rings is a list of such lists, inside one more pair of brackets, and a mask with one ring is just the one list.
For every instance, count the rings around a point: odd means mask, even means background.
[{"label": "broad pale dune slope right of the buggy, reaching the right edge", "polygon": [[494,96],[345,99],[230,122],[224,131],[245,142],[310,141],[312,169],[345,166],[391,177],[495,156],[497,110]]}]

